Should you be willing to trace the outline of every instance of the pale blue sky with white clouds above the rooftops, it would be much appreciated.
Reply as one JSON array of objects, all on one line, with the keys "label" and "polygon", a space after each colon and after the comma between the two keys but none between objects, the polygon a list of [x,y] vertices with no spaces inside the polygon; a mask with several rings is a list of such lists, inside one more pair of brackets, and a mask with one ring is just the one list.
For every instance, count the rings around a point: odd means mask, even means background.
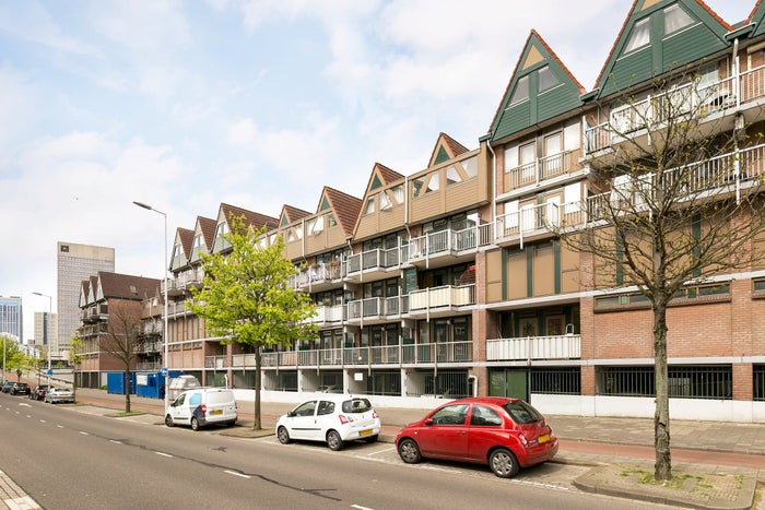
[{"label": "pale blue sky with white clouds above the rooftops", "polygon": [[[733,24],[755,0],[707,0]],[[479,146],[536,29],[591,90],[628,0],[0,0],[0,296],[24,340],[57,241],[163,277],[222,202],[278,217]],[[551,15],[554,14],[554,15]],[[169,259],[169,251],[166,253]]]}]

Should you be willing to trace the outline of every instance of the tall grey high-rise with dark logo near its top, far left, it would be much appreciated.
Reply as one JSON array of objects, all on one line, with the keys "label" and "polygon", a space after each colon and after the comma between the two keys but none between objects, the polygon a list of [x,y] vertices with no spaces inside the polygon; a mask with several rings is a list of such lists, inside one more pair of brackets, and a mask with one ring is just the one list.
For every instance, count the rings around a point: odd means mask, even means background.
[{"label": "tall grey high-rise with dark logo near its top, far left", "polygon": [[50,339],[50,353],[52,357],[66,358],[69,341],[80,327],[82,281],[98,271],[114,273],[115,249],[58,241],[57,253],[58,331]]}]

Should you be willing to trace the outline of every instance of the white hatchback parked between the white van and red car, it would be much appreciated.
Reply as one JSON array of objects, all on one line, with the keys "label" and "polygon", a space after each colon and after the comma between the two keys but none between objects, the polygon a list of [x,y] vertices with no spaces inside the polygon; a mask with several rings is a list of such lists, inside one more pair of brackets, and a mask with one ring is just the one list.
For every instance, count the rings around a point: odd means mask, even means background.
[{"label": "white hatchback parked between the white van and red car", "polygon": [[375,442],[380,435],[380,417],[367,399],[322,393],[282,415],[276,438],[282,444],[293,439],[325,441],[340,450],[345,441]]}]

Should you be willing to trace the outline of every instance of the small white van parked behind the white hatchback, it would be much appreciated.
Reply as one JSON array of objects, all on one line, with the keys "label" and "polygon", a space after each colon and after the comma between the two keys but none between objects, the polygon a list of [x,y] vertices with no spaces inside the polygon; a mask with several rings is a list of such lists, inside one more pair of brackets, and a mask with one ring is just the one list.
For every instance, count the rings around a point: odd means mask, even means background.
[{"label": "small white van parked behind the white hatchback", "polygon": [[234,390],[226,388],[195,388],[180,393],[165,412],[165,425],[190,425],[199,430],[210,424],[236,423]]}]

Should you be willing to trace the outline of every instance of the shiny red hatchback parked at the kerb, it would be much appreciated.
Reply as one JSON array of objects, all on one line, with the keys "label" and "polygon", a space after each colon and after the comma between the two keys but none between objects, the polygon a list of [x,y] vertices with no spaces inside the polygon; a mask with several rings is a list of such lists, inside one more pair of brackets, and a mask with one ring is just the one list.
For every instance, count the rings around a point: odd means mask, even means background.
[{"label": "shiny red hatchback parked at the kerb", "polygon": [[396,448],[408,464],[423,458],[489,464],[495,475],[509,478],[555,456],[557,438],[522,400],[478,396],[451,401],[407,425]]}]

